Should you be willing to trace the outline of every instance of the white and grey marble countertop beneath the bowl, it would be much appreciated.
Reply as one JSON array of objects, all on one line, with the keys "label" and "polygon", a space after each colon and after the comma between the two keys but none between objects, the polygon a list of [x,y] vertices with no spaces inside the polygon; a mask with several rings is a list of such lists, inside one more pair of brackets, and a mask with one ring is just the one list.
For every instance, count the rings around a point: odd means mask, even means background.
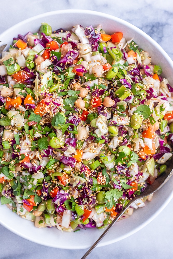
[{"label": "white and grey marble countertop beneath the bowl", "polygon": [[[124,19],[149,34],[173,59],[173,2],[170,0],[8,0],[1,1],[0,33],[34,15],[61,9],[88,9]],[[173,200],[146,227],[132,236],[96,248],[89,258],[173,258]],[[115,233],[116,234],[116,233]],[[77,259],[86,250],[61,250],[27,241],[0,225],[0,259]]]}]

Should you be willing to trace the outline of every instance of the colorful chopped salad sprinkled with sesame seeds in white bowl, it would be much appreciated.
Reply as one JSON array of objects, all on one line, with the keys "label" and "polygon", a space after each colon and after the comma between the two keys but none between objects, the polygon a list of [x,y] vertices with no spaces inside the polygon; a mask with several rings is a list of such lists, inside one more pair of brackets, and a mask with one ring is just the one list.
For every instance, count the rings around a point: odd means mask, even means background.
[{"label": "colorful chopped salad sprinkled with sesame seeds in white bowl", "polygon": [[0,64],[1,204],[36,227],[103,228],[166,170],[173,88],[133,38],[42,23]]}]

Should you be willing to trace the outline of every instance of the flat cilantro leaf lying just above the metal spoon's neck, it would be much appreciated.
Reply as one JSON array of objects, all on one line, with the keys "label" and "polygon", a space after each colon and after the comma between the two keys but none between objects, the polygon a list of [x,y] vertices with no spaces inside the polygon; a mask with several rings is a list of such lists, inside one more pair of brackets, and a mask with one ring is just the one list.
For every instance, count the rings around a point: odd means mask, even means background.
[{"label": "flat cilantro leaf lying just above the metal spoon's neck", "polygon": [[106,192],[105,198],[107,199],[107,203],[105,204],[105,206],[110,210],[117,203],[115,199],[120,199],[122,195],[123,192],[119,191],[119,189],[112,189]]}]

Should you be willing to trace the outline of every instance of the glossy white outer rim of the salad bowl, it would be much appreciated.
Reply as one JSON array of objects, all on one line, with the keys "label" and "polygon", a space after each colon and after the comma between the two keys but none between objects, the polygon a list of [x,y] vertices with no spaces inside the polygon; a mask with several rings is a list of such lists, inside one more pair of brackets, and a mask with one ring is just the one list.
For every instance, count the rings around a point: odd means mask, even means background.
[{"label": "glossy white outer rim of the salad bowl", "polygon": [[[112,19],[114,21],[117,21],[118,23],[127,26],[129,28],[131,28],[132,30],[136,31],[137,33],[139,33],[140,35],[142,35],[144,38],[146,38],[152,45],[154,45],[158,51],[160,51],[162,53],[162,55],[165,57],[165,59],[168,61],[169,65],[172,67],[173,69],[173,61],[171,60],[171,58],[169,57],[169,55],[164,51],[164,49],[153,39],[151,38],[147,33],[143,32],[140,28],[136,27],[135,25],[129,23],[128,21],[125,21],[121,18],[118,18],[116,16],[113,15],[109,15],[107,13],[103,13],[103,12],[98,12],[98,11],[93,11],[93,10],[84,10],[84,9],[64,9],[64,10],[55,10],[55,11],[50,11],[50,12],[45,12],[45,13],[41,13],[39,15],[36,16],[32,16],[30,18],[27,18],[23,21],[20,21],[19,23],[11,26],[10,28],[8,28],[7,30],[5,30],[3,33],[0,34],[0,39],[2,37],[5,37],[8,33],[11,32],[11,30],[16,29],[18,26],[24,26],[26,23],[29,23],[35,19],[39,19],[39,18],[45,18],[47,16],[50,15],[56,15],[56,14],[66,14],[66,13],[84,13],[84,14],[90,14],[90,15],[94,15],[94,16],[102,16],[105,18],[109,18]],[[137,231],[139,231],[140,229],[142,229],[144,226],[146,226],[147,224],[149,224],[154,218],[157,217],[158,214],[161,213],[161,211],[168,205],[168,203],[171,201],[171,199],[173,198],[173,190],[172,192],[169,194],[169,196],[167,197],[167,199],[164,201],[164,203],[162,204],[162,206],[160,208],[157,209],[157,211],[155,213],[153,213],[147,220],[144,220],[143,223],[141,223],[140,225],[138,225],[137,227],[135,227],[133,230],[129,231],[128,233],[122,235],[120,238],[114,238],[112,240],[108,240],[108,241],[104,241],[102,240],[97,247],[101,247],[101,246],[105,246],[108,244],[112,244],[115,243],[117,241],[120,241],[124,238],[127,238],[128,236],[136,233]],[[0,204],[1,205],[1,204]],[[1,221],[0,219],[0,224],[2,226],[4,226],[5,228],[9,229],[11,232],[21,236],[22,238],[25,238],[31,242],[35,242],[38,244],[43,245],[43,243],[41,243],[41,241],[39,242],[39,240],[35,240],[33,241],[33,239],[31,239],[30,237],[26,236],[25,234],[20,233],[19,231],[15,230],[15,229],[11,229],[11,227],[9,227],[8,225],[6,225],[4,222]],[[57,247],[57,246],[51,246],[50,244],[44,244],[45,246],[49,246],[49,247],[56,247],[56,248],[61,248],[61,249],[84,249],[84,248],[80,248],[80,247]]]}]

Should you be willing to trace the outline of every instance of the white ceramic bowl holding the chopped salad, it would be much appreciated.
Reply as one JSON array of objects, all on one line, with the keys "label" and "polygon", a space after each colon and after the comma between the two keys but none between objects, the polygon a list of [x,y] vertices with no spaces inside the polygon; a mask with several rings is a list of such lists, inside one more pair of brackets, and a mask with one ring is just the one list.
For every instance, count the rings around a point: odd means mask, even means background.
[{"label": "white ceramic bowl holding the chopped salad", "polygon": [[[75,24],[84,27],[92,25],[96,27],[102,24],[106,33],[122,31],[127,40],[134,38],[134,41],[145,51],[148,51],[153,64],[159,64],[163,70],[163,76],[168,78],[173,84],[173,62],[167,53],[146,33],[134,25],[123,21],[117,17],[86,10],[61,10],[44,13],[22,21],[0,35],[1,45],[11,44],[12,38],[18,34],[27,32],[37,32],[40,24],[46,22],[52,26],[52,30],[58,28],[70,29]],[[6,47],[7,49],[7,47]],[[115,226],[101,240],[98,246],[120,241],[127,236],[139,231],[153,220],[170,202],[173,197],[173,177],[155,193],[151,202],[147,206],[136,210],[128,219],[117,222]],[[79,232],[62,233],[54,228],[36,228],[30,221],[20,218],[12,213],[5,205],[0,205],[0,223],[10,231],[16,233],[30,241],[63,249],[84,249],[90,247],[102,234],[104,229],[87,229]],[[79,241],[80,240],[80,241]]]}]

